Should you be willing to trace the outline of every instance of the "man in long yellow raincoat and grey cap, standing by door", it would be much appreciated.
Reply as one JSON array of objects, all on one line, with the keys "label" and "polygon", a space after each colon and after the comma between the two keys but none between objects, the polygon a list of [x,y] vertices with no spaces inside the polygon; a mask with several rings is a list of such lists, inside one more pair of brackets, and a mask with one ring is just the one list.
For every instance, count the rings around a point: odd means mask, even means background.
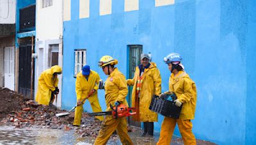
[{"label": "man in long yellow raincoat and grey cap, standing by door", "polygon": [[133,79],[127,79],[127,84],[132,88],[132,107],[136,113],[132,116],[134,121],[142,121],[144,135],[153,135],[154,122],[157,113],[149,108],[153,95],[161,93],[161,75],[154,62],[149,62],[148,54],[141,54],[141,64],[136,67]]}]

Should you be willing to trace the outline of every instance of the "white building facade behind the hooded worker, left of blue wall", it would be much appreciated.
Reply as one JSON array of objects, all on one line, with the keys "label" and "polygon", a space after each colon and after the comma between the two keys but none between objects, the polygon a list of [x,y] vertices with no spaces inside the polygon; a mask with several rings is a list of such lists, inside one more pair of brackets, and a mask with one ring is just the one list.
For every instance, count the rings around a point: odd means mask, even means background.
[{"label": "white building facade behind the hooded worker, left of blue wall", "polygon": [[[36,0],[35,96],[41,72],[54,65],[62,67],[62,37],[63,0]],[[54,104],[61,107],[62,75],[58,78],[60,93]]]}]

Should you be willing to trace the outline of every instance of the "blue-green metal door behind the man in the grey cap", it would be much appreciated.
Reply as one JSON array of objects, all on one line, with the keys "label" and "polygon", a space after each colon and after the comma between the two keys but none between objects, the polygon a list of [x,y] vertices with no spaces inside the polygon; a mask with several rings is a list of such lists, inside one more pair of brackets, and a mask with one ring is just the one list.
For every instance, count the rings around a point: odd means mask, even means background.
[{"label": "blue-green metal door behind the man in the grey cap", "polygon": [[[135,73],[135,68],[140,64],[140,55],[142,53],[142,45],[128,45],[128,49],[129,49],[129,55],[128,55],[129,56],[129,78],[133,78]],[[129,86],[128,96],[129,96],[128,103],[129,103],[129,106],[131,106],[132,86]],[[132,121],[130,118],[128,121],[129,121],[129,125],[134,125],[136,127],[141,126],[140,122]]]}]

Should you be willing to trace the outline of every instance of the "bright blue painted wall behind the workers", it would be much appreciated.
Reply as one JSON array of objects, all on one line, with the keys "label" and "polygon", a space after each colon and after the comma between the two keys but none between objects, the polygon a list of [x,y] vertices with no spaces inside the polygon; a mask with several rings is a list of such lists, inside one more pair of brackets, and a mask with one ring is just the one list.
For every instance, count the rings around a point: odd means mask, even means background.
[{"label": "bright blue painted wall behind the workers", "polygon": [[[87,63],[106,79],[97,66],[102,55],[118,59],[118,69],[127,76],[127,45],[143,45],[161,71],[163,92],[170,76],[163,57],[177,52],[184,58],[198,92],[193,120],[197,139],[256,144],[255,1],[176,0],[155,7],[154,1],[140,0],[140,10],[129,12],[124,12],[124,1],[112,3],[112,14],[99,16],[99,1],[90,1],[90,18],[82,19],[79,1],[71,3],[71,20],[63,29],[63,109],[76,104],[74,49],[86,48]],[[102,90],[99,99],[106,109]],[[92,111],[88,102],[84,109]],[[156,131],[161,121],[159,115]]]}]

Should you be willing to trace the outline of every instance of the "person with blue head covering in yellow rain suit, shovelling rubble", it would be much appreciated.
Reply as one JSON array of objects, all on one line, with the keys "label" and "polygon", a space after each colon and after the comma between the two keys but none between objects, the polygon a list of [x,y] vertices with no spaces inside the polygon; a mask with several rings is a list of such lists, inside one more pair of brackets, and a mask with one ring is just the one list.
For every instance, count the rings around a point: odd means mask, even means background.
[{"label": "person with blue head covering in yellow rain suit, shovelling rubble", "polygon": [[[81,72],[76,76],[76,96],[77,96],[77,107],[75,110],[75,118],[73,125],[80,126],[81,117],[83,113],[83,104],[81,102],[88,96],[89,93],[92,95],[88,97],[93,112],[101,112],[101,107],[98,99],[97,90],[99,88],[100,76],[97,72],[92,71],[90,66],[85,65]],[[95,116],[98,120],[102,121],[103,116]]]}]

